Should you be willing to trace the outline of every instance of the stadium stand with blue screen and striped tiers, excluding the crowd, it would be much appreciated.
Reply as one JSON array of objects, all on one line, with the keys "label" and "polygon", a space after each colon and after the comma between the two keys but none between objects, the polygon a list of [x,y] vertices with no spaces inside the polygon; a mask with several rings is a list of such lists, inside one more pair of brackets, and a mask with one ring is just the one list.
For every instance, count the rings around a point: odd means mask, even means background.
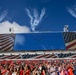
[{"label": "stadium stand with blue screen and striped tiers, excluding the crowd", "polygon": [[0,59],[51,58],[76,58],[76,32],[0,34]]}]

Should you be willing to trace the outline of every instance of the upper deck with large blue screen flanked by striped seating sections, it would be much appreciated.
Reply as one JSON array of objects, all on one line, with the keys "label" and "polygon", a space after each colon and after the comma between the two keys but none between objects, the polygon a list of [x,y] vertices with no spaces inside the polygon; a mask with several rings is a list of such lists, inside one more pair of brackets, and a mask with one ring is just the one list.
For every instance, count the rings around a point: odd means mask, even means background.
[{"label": "upper deck with large blue screen flanked by striped seating sections", "polygon": [[76,32],[0,34],[0,51],[76,50]]}]

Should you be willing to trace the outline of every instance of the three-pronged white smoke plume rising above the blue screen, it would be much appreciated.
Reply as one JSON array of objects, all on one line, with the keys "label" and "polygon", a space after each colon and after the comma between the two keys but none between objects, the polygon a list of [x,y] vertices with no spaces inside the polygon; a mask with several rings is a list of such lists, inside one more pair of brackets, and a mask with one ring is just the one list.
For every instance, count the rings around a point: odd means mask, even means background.
[{"label": "three-pronged white smoke plume rising above the blue screen", "polygon": [[33,9],[33,12],[31,12],[29,9],[26,8],[25,11],[26,11],[27,15],[30,18],[30,24],[31,24],[32,31],[35,31],[36,26],[38,26],[39,23],[42,21],[44,15],[46,13],[45,12],[46,9],[43,8],[41,10],[41,14],[40,15],[38,14],[38,11],[36,9]]}]

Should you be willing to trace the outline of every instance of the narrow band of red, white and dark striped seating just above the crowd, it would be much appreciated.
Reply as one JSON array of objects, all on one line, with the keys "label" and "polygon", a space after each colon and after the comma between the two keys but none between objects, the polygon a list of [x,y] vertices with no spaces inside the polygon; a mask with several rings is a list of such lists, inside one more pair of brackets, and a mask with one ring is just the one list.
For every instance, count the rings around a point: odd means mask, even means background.
[{"label": "narrow band of red, white and dark striped seating just above the crowd", "polygon": [[49,58],[76,58],[76,53],[51,53],[51,54],[2,54],[0,59],[49,59]]}]

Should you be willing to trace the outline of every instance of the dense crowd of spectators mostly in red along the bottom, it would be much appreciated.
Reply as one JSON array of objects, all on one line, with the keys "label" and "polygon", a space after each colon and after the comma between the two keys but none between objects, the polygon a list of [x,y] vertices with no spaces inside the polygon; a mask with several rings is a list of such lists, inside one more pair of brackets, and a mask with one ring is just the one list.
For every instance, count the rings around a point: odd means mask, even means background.
[{"label": "dense crowd of spectators mostly in red along the bottom", "polygon": [[0,75],[76,75],[76,60],[1,60]]}]

